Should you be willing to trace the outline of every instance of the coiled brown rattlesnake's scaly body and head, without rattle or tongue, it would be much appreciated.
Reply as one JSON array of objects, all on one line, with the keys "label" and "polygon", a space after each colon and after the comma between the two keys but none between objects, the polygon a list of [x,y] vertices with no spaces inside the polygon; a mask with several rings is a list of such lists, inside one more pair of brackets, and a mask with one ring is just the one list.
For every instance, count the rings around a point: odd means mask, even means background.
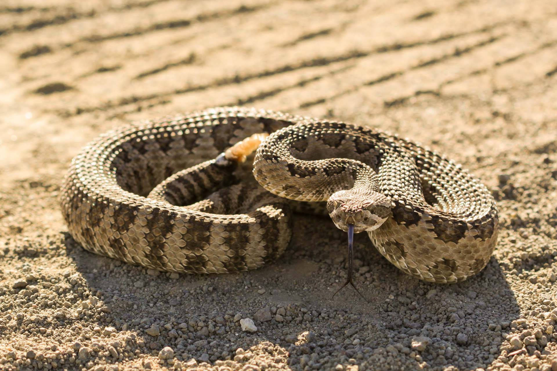
[{"label": "coiled brown rattlesnake's scaly body and head, without rattle or tongue", "polygon": [[[223,157],[256,133],[271,135],[252,168]],[[325,201],[337,227],[367,231],[392,264],[426,281],[478,273],[497,239],[490,192],[446,157],[372,128],[254,108],[105,133],[72,160],[61,192],[70,234],[85,249],[183,273],[276,259],[290,241],[292,204]]]}]

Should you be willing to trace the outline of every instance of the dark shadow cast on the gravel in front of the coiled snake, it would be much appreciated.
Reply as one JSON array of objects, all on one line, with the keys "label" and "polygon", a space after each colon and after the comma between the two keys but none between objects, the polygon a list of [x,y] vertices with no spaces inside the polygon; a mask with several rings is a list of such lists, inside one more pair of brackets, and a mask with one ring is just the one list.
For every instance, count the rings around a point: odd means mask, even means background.
[{"label": "dark shadow cast on the gravel in front of the coiled snake", "polygon": [[[158,273],[89,253],[69,234],[65,245],[90,295],[106,308],[91,321],[134,335],[121,362],[136,350],[156,357],[166,346],[175,362],[189,365],[234,359],[243,348],[284,357],[295,370],[472,370],[501,356],[520,309],[495,258],[462,283],[429,284],[394,268],[360,234],[355,283],[367,300],[349,286],[331,298],[346,278],[345,234],[330,220],[297,217],[284,256],[238,274]],[[243,318],[254,320],[255,333],[242,331]],[[149,334],[152,328],[159,334]]]}]

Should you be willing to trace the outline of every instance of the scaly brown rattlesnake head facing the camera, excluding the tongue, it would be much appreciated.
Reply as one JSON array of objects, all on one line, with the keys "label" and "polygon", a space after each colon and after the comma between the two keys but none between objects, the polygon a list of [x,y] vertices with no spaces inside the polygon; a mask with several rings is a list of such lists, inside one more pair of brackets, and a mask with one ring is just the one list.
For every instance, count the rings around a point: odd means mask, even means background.
[{"label": "scaly brown rattlesnake head facing the camera, excluding the tongue", "polygon": [[390,197],[379,192],[349,189],[335,192],[327,201],[327,211],[337,228],[354,233],[379,228],[390,215]]}]

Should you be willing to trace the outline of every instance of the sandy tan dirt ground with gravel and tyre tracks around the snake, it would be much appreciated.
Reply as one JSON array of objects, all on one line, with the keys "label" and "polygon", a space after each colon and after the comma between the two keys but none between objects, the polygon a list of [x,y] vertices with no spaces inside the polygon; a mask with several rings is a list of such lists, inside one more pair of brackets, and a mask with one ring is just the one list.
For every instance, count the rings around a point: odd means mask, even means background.
[{"label": "sandy tan dirt ground with gravel and tyre tracks around the snake", "polygon": [[[554,1],[3,0],[0,369],[557,371]],[[434,285],[301,216],[257,271],[175,275],[87,253],[58,192],[129,121],[249,105],[375,126],[480,177],[485,270]],[[242,330],[253,320],[255,332]]]}]

